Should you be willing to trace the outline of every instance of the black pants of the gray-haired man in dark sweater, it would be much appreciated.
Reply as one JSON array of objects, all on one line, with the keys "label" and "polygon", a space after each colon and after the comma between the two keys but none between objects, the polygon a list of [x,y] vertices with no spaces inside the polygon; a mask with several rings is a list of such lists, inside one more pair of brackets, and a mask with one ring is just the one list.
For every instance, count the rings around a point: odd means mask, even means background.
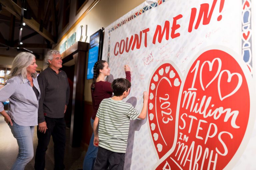
[{"label": "black pants of the gray-haired man in dark sweater", "polygon": [[36,148],[35,156],[35,169],[44,170],[45,167],[45,152],[48,148],[48,144],[51,139],[54,142],[54,169],[64,169],[64,152],[65,152],[65,141],[66,141],[66,123],[64,118],[48,118],[45,117],[47,126],[46,133],[38,131],[37,127],[37,138],[38,145]]}]

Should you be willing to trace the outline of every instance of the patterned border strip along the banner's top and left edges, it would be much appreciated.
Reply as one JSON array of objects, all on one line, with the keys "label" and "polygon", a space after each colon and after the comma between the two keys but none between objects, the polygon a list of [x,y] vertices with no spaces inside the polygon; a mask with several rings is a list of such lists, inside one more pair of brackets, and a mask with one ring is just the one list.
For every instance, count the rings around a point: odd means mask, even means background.
[{"label": "patterned border strip along the banner's top and left edges", "polygon": [[145,7],[143,7],[142,9],[140,9],[139,11],[135,12],[134,14],[132,14],[130,17],[126,18],[125,20],[123,20],[122,22],[118,23],[117,25],[115,25],[114,27],[112,27],[109,31],[108,31],[108,60],[107,62],[109,62],[109,57],[110,57],[110,33],[114,30],[116,30],[117,28],[121,27],[122,25],[128,23],[129,21],[133,20],[134,18],[138,17],[139,15],[143,14],[144,12],[155,8],[159,5],[161,5],[162,3],[164,3],[166,0],[158,0],[155,3],[152,3],[150,5],[147,5]]}]

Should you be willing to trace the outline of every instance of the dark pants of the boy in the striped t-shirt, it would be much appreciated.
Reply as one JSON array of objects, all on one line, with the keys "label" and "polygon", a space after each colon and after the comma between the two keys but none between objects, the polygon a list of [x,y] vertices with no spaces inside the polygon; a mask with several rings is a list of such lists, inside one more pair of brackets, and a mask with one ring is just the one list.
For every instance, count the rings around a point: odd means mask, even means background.
[{"label": "dark pants of the boy in the striped t-shirt", "polygon": [[99,147],[94,170],[123,170],[125,153],[112,152]]}]

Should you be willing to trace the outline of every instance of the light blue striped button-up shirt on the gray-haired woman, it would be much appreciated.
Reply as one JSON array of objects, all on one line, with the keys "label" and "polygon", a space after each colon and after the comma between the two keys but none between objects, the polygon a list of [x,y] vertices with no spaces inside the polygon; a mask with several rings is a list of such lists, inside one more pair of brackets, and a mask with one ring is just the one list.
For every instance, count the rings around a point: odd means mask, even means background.
[{"label": "light blue striped button-up shirt on the gray-haired woman", "polygon": [[[40,93],[37,78],[33,78],[33,84]],[[0,89],[0,112],[4,110],[2,102],[10,101],[8,115],[20,126],[35,126],[37,124],[38,98],[33,91],[28,79],[15,76],[7,80]]]}]

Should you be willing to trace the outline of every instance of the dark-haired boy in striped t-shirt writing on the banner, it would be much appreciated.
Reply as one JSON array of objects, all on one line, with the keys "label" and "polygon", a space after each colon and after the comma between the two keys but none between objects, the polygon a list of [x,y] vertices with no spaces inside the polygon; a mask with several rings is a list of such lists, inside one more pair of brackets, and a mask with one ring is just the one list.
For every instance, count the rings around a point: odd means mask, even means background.
[{"label": "dark-haired boy in striped t-shirt writing on the banner", "polygon": [[99,146],[94,170],[123,170],[130,119],[145,119],[147,114],[147,92],[143,94],[143,108],[139,113],[130,103],[122,101],[130,92],[128,80],[115,79],[111,87],[114,96],[102,100],[93,123],[93,144]]}]

